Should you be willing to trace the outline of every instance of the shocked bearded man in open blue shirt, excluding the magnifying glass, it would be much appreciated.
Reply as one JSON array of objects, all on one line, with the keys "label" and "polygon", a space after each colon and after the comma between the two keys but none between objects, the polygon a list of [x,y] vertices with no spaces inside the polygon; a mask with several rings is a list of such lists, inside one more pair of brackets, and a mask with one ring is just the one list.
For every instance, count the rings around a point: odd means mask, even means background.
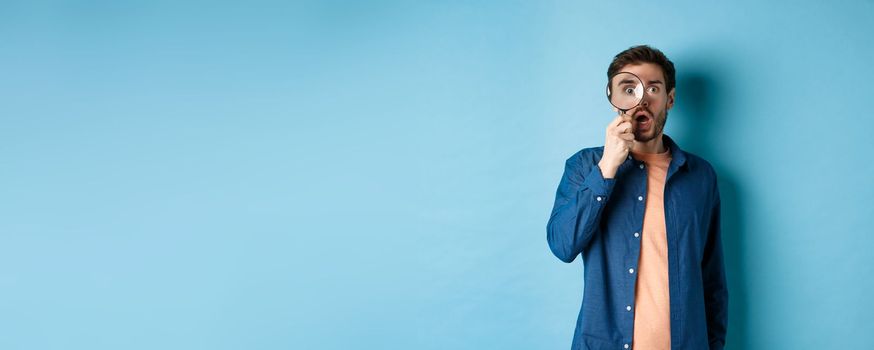
[{"label": "shocked bearded man in open blue shirt, excluding the magnifying glass", "polygon": [[572,349],[722,349],[728,286],[716,173],[663,134],[674,64],[635,46],[607,69],[619,72],[640,78],[642,100],[607,125],[603,147],[567,160],[546,229],[559,259],[583,255]]}]

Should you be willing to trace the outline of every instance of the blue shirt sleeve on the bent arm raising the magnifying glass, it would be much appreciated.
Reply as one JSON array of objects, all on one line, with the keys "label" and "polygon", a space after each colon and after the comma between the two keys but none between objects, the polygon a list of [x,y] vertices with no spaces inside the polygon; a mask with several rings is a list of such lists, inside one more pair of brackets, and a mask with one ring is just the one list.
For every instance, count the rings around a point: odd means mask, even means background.
[{"label": "blue shirt sleeve on the bent arm raising the magnifying glass", "polygon": [[546,225],[549,248],[561,261],[573,262],[597,232],[615,179],[605,179],[601,168],[578,153],[565,162]]}]

